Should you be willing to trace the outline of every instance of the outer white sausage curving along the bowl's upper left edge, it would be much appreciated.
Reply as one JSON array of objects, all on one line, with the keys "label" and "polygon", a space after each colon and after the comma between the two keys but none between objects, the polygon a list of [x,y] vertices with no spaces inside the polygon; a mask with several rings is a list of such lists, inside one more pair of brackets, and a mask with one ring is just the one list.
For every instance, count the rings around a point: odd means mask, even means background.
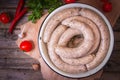
[{"label": "outer white sausage curving along the bowl's upper left edge", "polygon": [[69,8],[55,14],[46,25],[43,39],[44,42],[47,43],[49,41],[52,32],[62,20],[71,16],[79,15],[79,10],[80,8]]}]

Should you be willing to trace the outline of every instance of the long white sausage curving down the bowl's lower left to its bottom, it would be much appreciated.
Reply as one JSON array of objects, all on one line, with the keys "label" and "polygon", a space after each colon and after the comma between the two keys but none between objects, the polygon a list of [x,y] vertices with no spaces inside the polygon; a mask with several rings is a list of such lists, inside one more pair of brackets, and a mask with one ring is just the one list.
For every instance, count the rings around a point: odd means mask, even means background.
[{"label": "long white sausage curving down the bowl's lower left to its bottom", "polygon": [[86,67],[84,65],[72,66],[67,63],[64,63],[54,51],[54,49],[55,49],[54,47],[58,43],[60,36],[62,35],[62,33],[65,30],[66,30],[66,27],[63,25],[60,25],[53,32],[53,34],[50,38],[50,42],[48,43],[48,53],[49,53],[50,59],[56,67],[58,67],[60,70],[62,70],[64,72],[68,72],[68,73],[85,72]]}]

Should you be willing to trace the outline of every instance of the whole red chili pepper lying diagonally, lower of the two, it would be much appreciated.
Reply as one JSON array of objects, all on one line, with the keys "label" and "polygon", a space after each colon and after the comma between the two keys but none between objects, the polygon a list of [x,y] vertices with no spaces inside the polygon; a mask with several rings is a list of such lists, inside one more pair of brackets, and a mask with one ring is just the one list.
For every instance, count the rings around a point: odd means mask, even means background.
[{"label": "whole red chili pepper lying diagonally, lower of the two", "polygon": [[17,21],[28,11],[28,8],[24,8],[12,21],[10,28],[9,28],[9,33],[13,32],[13,29],[15,27],[15,24],[17,23]]}]

